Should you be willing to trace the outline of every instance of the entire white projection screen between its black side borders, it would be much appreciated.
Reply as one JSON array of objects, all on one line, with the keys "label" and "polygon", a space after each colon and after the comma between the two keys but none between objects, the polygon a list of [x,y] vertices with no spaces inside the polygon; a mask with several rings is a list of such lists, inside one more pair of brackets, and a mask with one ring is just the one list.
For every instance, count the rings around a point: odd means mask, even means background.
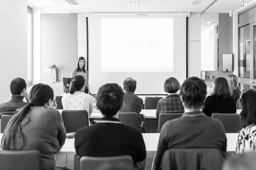
[{"label": "entire white projection screen between its black side borders", "polygon": [[166,79],[186,79],[186,17],[89,17],[88,46],[92,94],[127,77],[137,81],[136,94],[166,94]]}]

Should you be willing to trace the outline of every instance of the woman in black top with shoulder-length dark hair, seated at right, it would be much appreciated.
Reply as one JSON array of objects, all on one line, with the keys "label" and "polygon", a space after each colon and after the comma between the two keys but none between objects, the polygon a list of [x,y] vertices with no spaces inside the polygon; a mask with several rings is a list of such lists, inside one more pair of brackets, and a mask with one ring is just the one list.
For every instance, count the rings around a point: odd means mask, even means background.
[{"label": "woman in black top with shoulder-length dark hair, seated at right", "polygon": [[203,112],[207,116],[211,117],[212,113],[236,113],[236,102],[231,96],[232,91],[227,79],[223,77],[215,79],[212,94],[204,101]]}]

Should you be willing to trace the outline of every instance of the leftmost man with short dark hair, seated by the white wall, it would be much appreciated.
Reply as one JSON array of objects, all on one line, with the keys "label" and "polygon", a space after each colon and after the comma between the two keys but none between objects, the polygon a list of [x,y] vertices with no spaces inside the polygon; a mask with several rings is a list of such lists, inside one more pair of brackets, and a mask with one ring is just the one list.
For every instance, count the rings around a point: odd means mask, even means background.
[{"label": "leftmost man with short dark hair, seated by the white wall", "polygon": [[9,102],[2,103],[0,105],[0,115],[3,112],[9,112],[12,114],[16,111],[17,108],[22,108],[27,103],[23,102],[24,97],[26,96],[26,82],[22,78],[15,78],[10,84],[10,89],[12,93],[12,98]]}]

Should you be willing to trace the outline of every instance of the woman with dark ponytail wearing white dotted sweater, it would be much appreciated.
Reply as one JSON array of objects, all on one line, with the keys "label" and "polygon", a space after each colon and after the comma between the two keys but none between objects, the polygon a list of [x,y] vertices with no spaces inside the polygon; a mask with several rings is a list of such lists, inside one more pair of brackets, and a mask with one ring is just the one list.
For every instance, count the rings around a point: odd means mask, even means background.
[{"label": "woman with dark ponytail wearing white dotted sweater", "polygon": [[86,110],[89,115],[93,113],[93,96],[84,93],[85,79],[76,76],[70,84],[70,91],[62,99],[64,110]]}]

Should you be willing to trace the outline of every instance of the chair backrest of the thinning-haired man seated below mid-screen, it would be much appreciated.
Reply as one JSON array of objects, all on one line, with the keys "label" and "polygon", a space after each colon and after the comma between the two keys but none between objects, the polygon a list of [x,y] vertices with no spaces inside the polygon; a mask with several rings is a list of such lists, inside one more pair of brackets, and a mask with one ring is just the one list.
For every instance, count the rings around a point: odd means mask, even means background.
[{"label": "chair backrest of the thinning-haired man seated below mid-screen", "polygon": [[136,112],[120,112],[118,119],[122,124],[139,130],[139,116]]}]

